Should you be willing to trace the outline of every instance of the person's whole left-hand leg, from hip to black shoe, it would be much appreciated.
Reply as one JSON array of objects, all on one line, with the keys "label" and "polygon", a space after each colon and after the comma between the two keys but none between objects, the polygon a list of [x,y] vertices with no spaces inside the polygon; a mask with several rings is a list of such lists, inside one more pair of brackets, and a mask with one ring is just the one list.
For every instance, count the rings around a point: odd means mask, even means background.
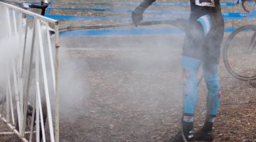
[{"label": "person's whole left-hand leg, from hip to black shoe", "polygon": [[193,139],[193,113],[197,102],[196,75],[201,65],[203,27],[198,21],[190,20],[183,43],[182,67],[183,67],[183,116],[181,129],[183,138],[187,141]]}]

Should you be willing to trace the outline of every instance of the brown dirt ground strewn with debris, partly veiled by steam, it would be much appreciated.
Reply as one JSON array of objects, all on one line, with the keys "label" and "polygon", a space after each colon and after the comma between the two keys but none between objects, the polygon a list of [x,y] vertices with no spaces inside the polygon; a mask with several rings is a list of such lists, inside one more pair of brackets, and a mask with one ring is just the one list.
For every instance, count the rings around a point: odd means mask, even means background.
[{"label": "brown dirt ground strewn with debris, partly veiled by steam", "polygon": [[[60,23],[63,27],[81,24]],[[229,34],[225,33],[224,42]],[[60,43],[60,141],[161,142],[180,130],[183,34],[67,36]],[[222,101],[214,141],[256,141],[256,88],[251,85],[256,81],[235,79],[221,58],[219,74]],[[206,84],[201,82],[195,131],[205,119],[206,94]],[[0,126],[8,131],[2,121]],[[0,141],[18,138],[0,136]]]}]

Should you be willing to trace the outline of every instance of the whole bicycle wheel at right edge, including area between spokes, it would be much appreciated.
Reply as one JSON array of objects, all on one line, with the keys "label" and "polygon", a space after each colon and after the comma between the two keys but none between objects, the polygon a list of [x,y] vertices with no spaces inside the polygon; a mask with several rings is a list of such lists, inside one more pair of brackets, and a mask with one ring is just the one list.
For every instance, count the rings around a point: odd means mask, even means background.
[{"label": "whole bicycle wheel at right edge, including area between spokes", "polygon": [[239,80],[256,79],[256,26],[241,26],[228,37],[223,61],[231,75]]}]

